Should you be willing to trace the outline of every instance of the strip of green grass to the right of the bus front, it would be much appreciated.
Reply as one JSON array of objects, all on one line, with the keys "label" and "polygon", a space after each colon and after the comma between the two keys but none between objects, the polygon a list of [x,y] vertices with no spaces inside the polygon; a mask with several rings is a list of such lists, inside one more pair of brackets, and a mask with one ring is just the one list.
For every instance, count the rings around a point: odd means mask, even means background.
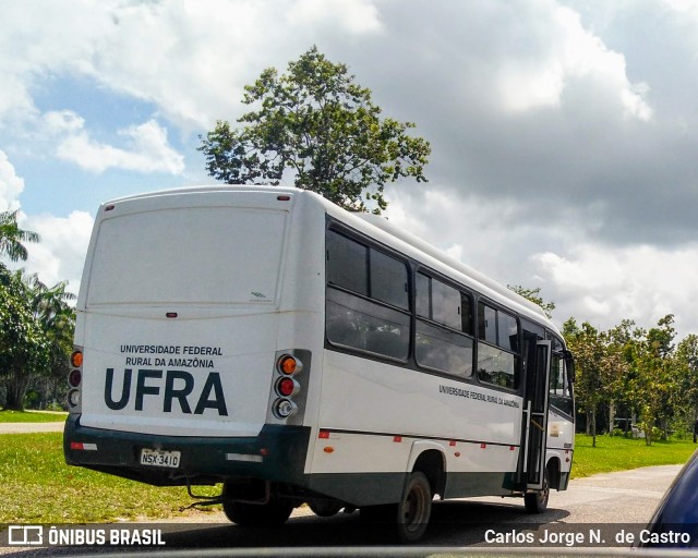
[{"label": "strip of green grass to the right of the bus front", "polygon": [[647,446],[643,439],[604,435],[597,436],[595,448],[591,444],[591,436],[577,434],[575,437],[573,478],[639,466],[683,464],[698,449],[693,438],[653,441]]}]

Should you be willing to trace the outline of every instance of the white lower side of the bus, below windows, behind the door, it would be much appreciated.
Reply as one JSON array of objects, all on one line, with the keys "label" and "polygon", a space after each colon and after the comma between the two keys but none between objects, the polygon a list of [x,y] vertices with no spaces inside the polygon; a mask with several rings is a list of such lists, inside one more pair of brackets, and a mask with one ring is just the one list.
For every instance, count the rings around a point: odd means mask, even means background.
[{"label": "white lower side of the bus, below windows, behind the door", "polygon": [[399,498],[412,444],[424,439],[446,448],[446,496],[507,494],[520,450],[521,398],[325,351],[318,427],[325,432],[313,454],[313,485],[334,476],[347,487],[337,492],[351,494],[357,482],[376,484],[377,495],[353,500]]}]

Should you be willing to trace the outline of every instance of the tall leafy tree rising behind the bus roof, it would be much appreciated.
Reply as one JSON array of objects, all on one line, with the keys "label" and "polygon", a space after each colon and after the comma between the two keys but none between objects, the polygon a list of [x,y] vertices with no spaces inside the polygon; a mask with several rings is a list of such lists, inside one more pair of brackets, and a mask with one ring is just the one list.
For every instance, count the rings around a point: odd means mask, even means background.
[{"label": "tall leafy tree rising behind the bus roof", "polygon": [[312,190],[352,210],[381,213],[384,186],[402,177],[426,181],[429,142],[412,137],[411,122],[381,117],[371,90],[354,83],[345,64],[311,48],[279,75],[274,68],[244,88],[243,114],[233,129],[218,121],[198,150],[206,170],[230,184],[267,181],[286,171],[297,187]]}]

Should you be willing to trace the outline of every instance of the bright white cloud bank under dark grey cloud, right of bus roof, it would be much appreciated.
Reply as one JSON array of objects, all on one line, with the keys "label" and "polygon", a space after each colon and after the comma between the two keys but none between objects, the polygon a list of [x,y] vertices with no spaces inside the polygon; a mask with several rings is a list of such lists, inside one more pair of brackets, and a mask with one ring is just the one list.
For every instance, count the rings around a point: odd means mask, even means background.
[{"label": "bright white cloud bank under dark grey cloud, right of bus roof", "polygon": [[622,319],[653,327],[674,314],[679,337],[698,332],[690,301],[698,300],[698,242],[675,247],[604,245],[568,214],[533,225],[516,202],[448,190],[387,191],[390,222],[410,230],[502,284],[541,288],[556,304],[554,322],[569,317],[607,329]]}]

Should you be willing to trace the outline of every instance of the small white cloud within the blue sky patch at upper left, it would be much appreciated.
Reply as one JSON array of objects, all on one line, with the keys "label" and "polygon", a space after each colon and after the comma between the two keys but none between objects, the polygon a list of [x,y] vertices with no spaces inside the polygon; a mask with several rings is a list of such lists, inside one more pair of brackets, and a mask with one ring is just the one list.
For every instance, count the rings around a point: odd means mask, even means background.
[{"label": "small white cloud within the blue sky patch at upper left", "polygon": [[59,137],[56,155],[91,172],[110,168],[140,172],[180,174],[184,158],[172,149],[167,131],[155,120],[119,130],[128,149],[96,142],[85,130],[84,120],[72,111],[45,114],[46,130]]}]

